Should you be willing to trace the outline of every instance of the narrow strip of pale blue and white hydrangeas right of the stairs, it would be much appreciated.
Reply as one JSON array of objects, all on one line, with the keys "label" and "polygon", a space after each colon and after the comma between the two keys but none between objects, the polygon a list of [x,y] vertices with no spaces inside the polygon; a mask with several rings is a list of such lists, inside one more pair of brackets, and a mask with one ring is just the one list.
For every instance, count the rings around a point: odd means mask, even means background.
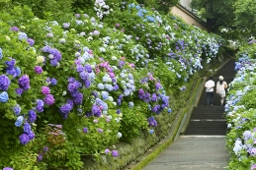
[{"label": "narrow strip of pale blue and white hydrangeas right of the stairs", "polygon": [[230,84],[225,105],[226,147],[231,153],[228,169],[256,169],[255,159],[255,43],[242,48],[237,55],[237,75]]}]

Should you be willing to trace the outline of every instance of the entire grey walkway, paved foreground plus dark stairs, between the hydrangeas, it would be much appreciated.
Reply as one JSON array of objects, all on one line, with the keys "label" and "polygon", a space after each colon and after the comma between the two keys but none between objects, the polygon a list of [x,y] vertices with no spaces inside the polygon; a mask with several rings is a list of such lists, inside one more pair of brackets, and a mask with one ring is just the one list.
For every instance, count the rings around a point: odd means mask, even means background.
[{"label": "entire grey walkway, paved foreground plus dark stairs, between the hydrangeas", "polygon": [[[234,60],[227,62],[215,75],[223,76],[229,84],[233,77]],[[194,108],[185,133],[142,170],[220,170],[227,166],[229,153],[225,150],[226,121],[224,107],[218,96],[213,106],[207,106],[203,91],[199,104]]]}]

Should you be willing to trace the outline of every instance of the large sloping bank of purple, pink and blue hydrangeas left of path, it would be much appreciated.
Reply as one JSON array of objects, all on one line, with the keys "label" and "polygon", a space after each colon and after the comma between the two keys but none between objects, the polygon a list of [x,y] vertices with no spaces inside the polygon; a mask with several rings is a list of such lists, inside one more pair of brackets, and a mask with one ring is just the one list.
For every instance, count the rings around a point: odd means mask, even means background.
[{"label": "large sloping bank of purple, pink and blue hydrangeas left of path", "polygon": [[220,46],[137,4],[96,0],[94,9],[58,22],[27,7],[0,15],[0,167],[79,169],[81,154],[118,157],[109,146],[153,133],[154,116],[172,112],[165,89],[185,90]]}]

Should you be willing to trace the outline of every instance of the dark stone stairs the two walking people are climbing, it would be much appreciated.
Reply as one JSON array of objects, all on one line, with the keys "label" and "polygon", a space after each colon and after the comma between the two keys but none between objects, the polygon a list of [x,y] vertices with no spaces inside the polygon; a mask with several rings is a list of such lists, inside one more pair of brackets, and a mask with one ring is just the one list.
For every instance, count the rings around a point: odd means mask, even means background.
[{"label": "dark stone stairs the two walking people are climbing", "polygon": [[[215,85],[218,81],[218,76],[223,76],[227,85],[235,76],[234,65],[235,61],[228,61],[218,72],[213,76]],[[215,90],[215,88],[214,88]],[[194,107],[189,124],[184,135],[210,135],[210,136],[225,136],[226,120],[223,117],[224,107],[220,106],[219,96],[215,94],[213,97],[213,106],[207,106],[207,94],[204,89],[200,97],[197,107]]]}]

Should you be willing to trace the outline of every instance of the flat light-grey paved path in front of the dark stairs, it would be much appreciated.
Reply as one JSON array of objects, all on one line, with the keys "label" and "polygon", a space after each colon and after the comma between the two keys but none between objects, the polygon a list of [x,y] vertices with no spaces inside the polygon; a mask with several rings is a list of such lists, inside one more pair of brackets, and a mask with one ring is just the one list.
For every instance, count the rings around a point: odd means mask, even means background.
[{"label": "flat light-grey paved path in front of the dark stairs", "polygon": [[220,170],[229,154],[223,136],[180,136],[143,170]]}]

